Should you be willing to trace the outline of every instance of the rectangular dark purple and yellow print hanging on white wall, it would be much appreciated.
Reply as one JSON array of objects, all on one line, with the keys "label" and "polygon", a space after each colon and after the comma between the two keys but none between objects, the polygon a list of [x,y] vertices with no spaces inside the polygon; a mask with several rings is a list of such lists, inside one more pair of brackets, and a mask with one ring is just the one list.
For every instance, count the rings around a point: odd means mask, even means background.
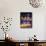
[{"label": "rectangular dark purple and yellow print hanging on white wall", "polygon": [[32,12],[20,12],[20,28],[32,28]]}]

